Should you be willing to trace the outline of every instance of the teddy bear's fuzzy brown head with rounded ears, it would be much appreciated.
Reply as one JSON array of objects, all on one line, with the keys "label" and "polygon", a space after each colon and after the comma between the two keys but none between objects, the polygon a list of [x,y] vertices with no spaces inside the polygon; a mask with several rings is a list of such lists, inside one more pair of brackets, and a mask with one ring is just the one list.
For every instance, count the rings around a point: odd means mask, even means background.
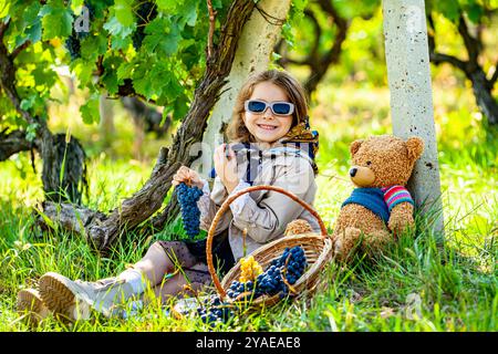
[{"label": "teddy bear's fuzzy brown head with rounded ears", "polygon": [[405,186],[424,143],[418,137],[404,142],[391,135],[372,136],[351,145],[352,181],[359,187]]}]

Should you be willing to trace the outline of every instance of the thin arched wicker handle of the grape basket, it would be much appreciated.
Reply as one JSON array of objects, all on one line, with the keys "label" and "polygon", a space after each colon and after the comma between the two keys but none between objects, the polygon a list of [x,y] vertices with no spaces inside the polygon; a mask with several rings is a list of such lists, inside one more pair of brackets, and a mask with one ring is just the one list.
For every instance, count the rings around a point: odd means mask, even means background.
[{"label": "thin arched wicker handle of the grape basket", "polygon": [[206,260],[207,260],[207,266],[208,266],[209,273],[211,274],[212,281],[215,283],[216,290],[219,293],[220,300],[222,300],[226,296],[226,292],[225,292],[224,288],[221,287],[221,283],[219,282],[219,278],[216,274],[215,267],[212,266],[212,238],[215,237],[216,226],[218,225],[218,221],[221,218],[221,216],[225,214],[225,211],[227,211],[227,209],[229,208],[230,204],[235,199],[237,199],[238,197],[240,197],[241,195],[245,195],[247,192],[255,191],[255,190],[261,190],[261,189],[279,191],[279,192],[288,196],[292,200],[297,201],[298,204],[300,204],[304,209],[310,211],[313,217],[317,218],[317,220],[318,220],[318,222],[320,225],[320,230],[322,231],[322,236],[328,237],[326,228],[325,228],[325,225],[323,223],[322,218],[320,218],[318,212],[309,204],[307,204],[305,201],[301,200],[297,195],[294,195],[294,194],[292,194],[292,192],[290,192],[290,191],[288,191],[288,190],[286,190],[283,188],[269,186],[269,185],[260,185],[260,186],[247,187],[245,189],[241,189],[241,190],[237,191],[235,195],[228,197],[224,201],[221,207],[219,208],[218,212],[216,212],[215,218],[212,219],[211,226],[209,228],[207,239],[206,239]]}]

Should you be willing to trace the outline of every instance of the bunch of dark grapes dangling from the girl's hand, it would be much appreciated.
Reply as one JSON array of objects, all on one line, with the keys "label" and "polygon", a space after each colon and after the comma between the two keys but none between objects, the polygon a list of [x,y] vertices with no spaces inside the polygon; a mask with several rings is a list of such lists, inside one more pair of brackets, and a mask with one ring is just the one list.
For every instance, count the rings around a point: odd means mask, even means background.
[{"label": "bunch of dark grapes dangling from the girl's hand", "polygon": [[197,207],[197,200],[203,195],[203,190],[196,186],[188,187],[181,183],[176,187],[176,192],[180,205],[185,232],[187,232],[189,238],[194,238],[200,231],[200,211]]}]

